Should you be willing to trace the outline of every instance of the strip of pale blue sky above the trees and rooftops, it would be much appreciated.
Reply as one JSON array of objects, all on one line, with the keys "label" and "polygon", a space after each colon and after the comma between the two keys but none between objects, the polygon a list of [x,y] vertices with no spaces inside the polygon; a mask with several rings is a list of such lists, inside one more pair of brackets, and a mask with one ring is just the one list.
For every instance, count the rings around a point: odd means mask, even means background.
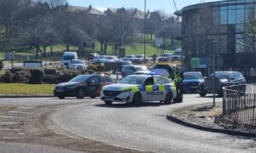
[{"label": "strip of pale blue sky above the trees and rooftops", "polygon": [[[176,0],[177,9],[181,9],[185,6],[205,2],[214,2],[219,0]],[[163,10],[167,14],[173,14],[175,7],[172,0],[147,0],[147,10]],[[144,0],[68,0],[70,5],[85,6],[91,5],[93,8],[97,8],[104,11],[108,8],[139,8],[144,10]]]}]

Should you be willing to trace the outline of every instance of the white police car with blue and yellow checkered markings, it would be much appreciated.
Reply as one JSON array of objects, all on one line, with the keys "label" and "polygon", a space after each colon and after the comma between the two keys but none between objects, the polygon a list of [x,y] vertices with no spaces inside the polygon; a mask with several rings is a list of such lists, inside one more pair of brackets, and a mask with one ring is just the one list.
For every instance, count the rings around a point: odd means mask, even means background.
[{"label": "white police car with blue and yellow checkered markings", "polygon": [[139,105],[142,102],[160,101],[171,104],[177,97],[175,85],[166,77],[131,75],[120,82],[102,88],[101,99],[106,105],[126,102]]}]

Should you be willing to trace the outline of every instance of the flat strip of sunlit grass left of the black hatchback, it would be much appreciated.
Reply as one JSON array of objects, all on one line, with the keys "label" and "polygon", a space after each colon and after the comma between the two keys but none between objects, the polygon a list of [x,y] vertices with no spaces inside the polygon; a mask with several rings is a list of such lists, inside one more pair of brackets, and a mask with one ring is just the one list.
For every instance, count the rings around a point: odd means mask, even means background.
[{"label": "flat strip of sunlit grass left of the black hatchback", "polygon": [[51,95],[54,84],[0,83],[0,95]]}]

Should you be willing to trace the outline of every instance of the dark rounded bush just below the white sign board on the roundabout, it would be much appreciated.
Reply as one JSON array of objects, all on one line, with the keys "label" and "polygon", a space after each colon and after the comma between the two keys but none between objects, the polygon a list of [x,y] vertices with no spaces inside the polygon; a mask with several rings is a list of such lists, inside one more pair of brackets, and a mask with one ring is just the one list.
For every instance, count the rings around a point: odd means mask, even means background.
[{"label": "dark rounded bush just below the white sign board on the roundabout", "polygon": [[40,68],[32,68],[29,70],[31,77],[29,83],[41,84],[44,77],[44,70]]}]

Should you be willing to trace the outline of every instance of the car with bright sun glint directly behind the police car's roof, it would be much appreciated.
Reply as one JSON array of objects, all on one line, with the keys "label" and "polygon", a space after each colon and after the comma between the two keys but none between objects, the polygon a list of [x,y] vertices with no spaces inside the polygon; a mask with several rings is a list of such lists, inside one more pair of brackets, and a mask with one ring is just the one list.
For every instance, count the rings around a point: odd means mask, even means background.
[{"label": "car with bright sun glint directly behind the police car's roof", "polygon": [[134,74],[149,74],[150,71],[148,71],[146,66],[143,65],[125,65],[124,68],[121,71],[122,77],[126,77],[129,75]]}]

